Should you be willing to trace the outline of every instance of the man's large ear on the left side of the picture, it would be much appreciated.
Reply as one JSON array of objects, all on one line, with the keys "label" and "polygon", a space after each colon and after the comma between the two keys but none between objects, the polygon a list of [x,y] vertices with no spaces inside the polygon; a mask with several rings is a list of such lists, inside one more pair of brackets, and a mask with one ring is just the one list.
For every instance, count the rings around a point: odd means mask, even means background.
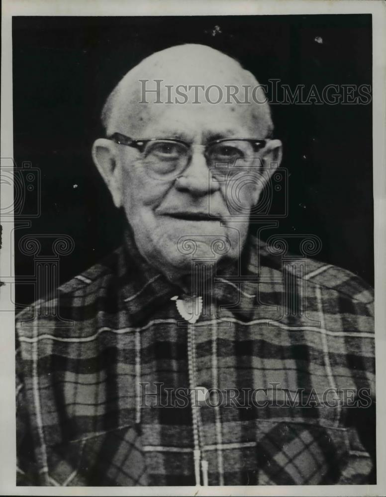
[{"label": "man's large ear on the left side of the picture", "polygon": [[115,207],[121,207],[121,168],[116,158],[114,143],[106,138],[98,138],[94,142],[92,154],[94,163],[110,190]]}]

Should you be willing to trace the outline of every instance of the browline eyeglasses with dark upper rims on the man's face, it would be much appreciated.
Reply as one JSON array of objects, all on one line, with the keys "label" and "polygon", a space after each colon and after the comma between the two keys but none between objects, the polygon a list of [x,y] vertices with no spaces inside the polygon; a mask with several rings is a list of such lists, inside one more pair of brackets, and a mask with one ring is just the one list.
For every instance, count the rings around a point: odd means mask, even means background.
[{"label": "browline eyeglasses with dark upper rims on the man's face", "polygon": [[240,167],[251,165],[256,153],[269,141],[250,138],[222,138],[206,145],[189,144],[183,140],[171,138],[150,138],[133,140],[121,133],[108,137],[118,145],[137,149],[142,155],[142,163],[149,176],[155,179],[172,180],[180,176],[188,166],[192,150],[203,150],[208,167],[215,175],[215,168],[224,168],[230,173],[239,172]]}]

